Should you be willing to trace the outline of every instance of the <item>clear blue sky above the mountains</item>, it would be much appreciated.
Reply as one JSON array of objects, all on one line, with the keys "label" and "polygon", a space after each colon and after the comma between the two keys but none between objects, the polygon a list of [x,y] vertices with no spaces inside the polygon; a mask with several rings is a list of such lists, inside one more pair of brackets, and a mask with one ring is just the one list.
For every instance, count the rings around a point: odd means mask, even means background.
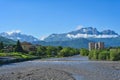
[{"label": "clear blue sky above the mountains", "polygon": [[0,32],[20,30],[39,38],[77,26],[120,34],[120,0],[0,0]]}]

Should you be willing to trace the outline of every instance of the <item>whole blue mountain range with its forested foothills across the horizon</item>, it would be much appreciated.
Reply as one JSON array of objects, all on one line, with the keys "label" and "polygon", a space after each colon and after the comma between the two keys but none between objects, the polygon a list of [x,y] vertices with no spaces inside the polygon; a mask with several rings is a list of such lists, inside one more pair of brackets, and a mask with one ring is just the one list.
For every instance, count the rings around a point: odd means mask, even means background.
[{"label": "whole blue mountain range with its forested foothills across the horizon", "polygon": [[120,35],[113,30],[98,31],[93,27],[81,28],[79,30],[62,33],[51,34],[44,40],[40,40],[31,35],[22,34],[20,32],[3,32],[0,36],[12,39],[27,41],[33,44],[64,46],[74,48],[88,48],[89,42],[105,42],[106,47],[120,46]]}]

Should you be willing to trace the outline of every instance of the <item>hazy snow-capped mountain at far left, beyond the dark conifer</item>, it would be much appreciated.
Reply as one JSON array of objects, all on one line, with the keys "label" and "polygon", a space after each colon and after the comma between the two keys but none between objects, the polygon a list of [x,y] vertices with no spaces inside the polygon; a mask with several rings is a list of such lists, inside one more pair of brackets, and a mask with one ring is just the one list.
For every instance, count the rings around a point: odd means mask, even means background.
[{"label": "hazy snow-capped mountain at far left, beyond the dark conifer", "polygon": [[22,42],[23,41],[27,41],[27,42],[38,41],[37,38],[31,35],[22,34],[20,31],[3,32],[3,33],[0,33],[0,36],[6,37],[8,39],[12,39],[14,41],[17,41],[17,40],[20,40]]}]

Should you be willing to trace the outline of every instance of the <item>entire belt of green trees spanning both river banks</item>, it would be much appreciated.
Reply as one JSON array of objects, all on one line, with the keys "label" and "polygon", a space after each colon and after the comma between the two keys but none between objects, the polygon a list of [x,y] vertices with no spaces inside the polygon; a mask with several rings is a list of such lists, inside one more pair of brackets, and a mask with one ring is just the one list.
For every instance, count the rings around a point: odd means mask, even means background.
[{"label": "entire belt of green trees spanning both river banks", "polygon": [[[4,49],[3,42],[0,42],[0,52]],[[18,40],[16,45],[13,45],[12,52],[18,52],[22,54],[30,54],[39,57],[68,57],[73,55],[88,56],[90,60],[120,60],[120,48],[109,48],[103,50],[91,50],[88,49],[75,49],[71,47],[61,47],[61,46],[36,46],[34,51],[24,51],[21,42]]]}]

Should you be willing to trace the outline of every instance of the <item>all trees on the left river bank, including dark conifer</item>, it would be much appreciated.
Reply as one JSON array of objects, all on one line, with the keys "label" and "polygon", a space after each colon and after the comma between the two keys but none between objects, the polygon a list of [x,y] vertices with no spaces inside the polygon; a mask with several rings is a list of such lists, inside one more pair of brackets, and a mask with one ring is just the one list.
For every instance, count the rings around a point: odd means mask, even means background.
[{"label": "all trees on the left river bank, including dark conifer", "polygon": [[[0,50],[2,50],[4,47],[3,42],[0,43]],[[79,49],[71,48],[71,47],[62,47],[62,46],[36,46],[36,49],[34,51],[24,51],[24,49],[21,46],[21,42],[18,40],[16,42],[16,45],[13,46],[12,52],[18,52],[23,54],[30,54],[40,57],[68,57],[80,54]],[[2,51],[4,52],[4,51]]]}]

